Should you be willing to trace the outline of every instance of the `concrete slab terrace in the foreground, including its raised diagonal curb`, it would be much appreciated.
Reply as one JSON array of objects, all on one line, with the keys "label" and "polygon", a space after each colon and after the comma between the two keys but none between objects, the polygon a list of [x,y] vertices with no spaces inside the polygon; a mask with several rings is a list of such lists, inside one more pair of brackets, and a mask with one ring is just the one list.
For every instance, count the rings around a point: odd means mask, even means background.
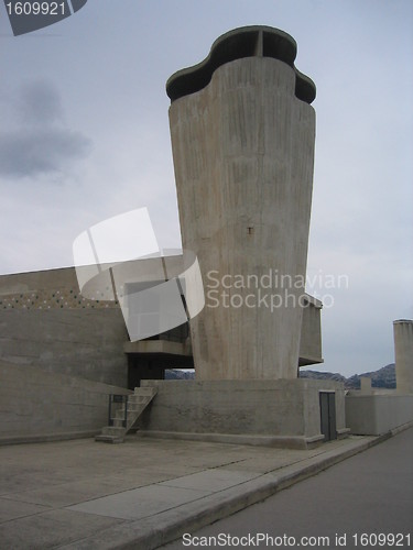
[{"label": "concrete slab terrace in the foreground, including its raised diagonal curb", "polygon": [[0,447],[1,549],[154,549],[363,451],[142,439]]}]

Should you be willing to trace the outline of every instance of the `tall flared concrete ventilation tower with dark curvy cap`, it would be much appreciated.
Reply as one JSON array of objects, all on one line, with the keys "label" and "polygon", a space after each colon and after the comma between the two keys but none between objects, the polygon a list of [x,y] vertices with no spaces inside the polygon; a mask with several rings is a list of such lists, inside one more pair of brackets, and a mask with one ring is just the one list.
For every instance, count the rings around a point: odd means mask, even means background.
[{"label": "tall flared concrete ventilation tower with dark curvy cap", "polygon": [[247,26],[166,85],[183,246],[206,292],[191,321],[200,381],[297,376],[315,85],[295,56],[289,34]]}]

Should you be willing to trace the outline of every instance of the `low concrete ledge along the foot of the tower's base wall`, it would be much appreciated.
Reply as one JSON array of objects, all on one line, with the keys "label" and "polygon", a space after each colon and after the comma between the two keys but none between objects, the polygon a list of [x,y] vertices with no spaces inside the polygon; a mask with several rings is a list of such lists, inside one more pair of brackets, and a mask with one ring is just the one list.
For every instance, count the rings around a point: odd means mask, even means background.
[{"label": "low concrete ledge along the foot of the tower's base wall", "polygon": [[251,436],[233,433],[191,433],[178,431],[140,430],[140,438],[182,439],[188,441],[208,441],[243,446],[274,447],[276,449],[313,449],[324,441],[324,436],[311,438],[289,436]]}]

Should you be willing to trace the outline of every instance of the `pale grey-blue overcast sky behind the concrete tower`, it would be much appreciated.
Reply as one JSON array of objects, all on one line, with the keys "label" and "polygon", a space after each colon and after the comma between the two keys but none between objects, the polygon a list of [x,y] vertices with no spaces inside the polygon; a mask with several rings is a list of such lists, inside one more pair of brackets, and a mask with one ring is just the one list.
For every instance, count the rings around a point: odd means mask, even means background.
[{"label": "pale grey-blue overcast sky behind the concrete tower", "polygon": [[317,86],[308,274],[349,282],[308,287],[334,299],[322,370],[393,361],[392,320],[413,318],[411,0],[88,0],[19,37],[3,2],[0,20],[0,274],[73,265],[81,231],[143,206],[180,246],[165,81],[271,25]]}]

